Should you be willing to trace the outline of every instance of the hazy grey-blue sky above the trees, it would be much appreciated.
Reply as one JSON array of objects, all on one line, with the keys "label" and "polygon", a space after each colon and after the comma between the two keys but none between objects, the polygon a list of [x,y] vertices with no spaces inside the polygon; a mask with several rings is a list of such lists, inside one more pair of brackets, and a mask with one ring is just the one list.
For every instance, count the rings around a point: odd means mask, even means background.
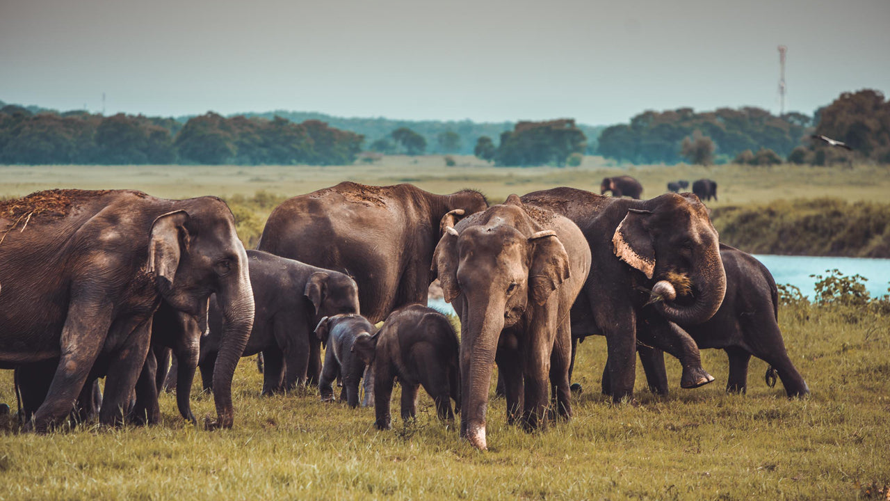
[{"label": "hazy grey-blue sky above the trees", "polygon": [[179,116],[627,122],[890,92],[888,0],[0,0],[0,100]]}]

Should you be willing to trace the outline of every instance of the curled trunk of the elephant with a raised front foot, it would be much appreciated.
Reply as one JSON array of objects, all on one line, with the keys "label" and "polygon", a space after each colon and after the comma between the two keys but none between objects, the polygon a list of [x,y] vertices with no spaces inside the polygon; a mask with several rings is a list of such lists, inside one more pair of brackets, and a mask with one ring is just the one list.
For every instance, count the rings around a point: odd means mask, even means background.
[{"label": "curled trunk of the elephant with a raised front foot", "polygon": [[[707,322],[723,304],[726,294],[726,272],[717,245],[709,250],[705,257],[699,259],[693,267],[696,274],[692,280],[694,300],[690,305],[679,305],[669,297],[655,303],[659,313],[676,324],[694,325]],[[663,285],[656,283],[656,289]]]}]

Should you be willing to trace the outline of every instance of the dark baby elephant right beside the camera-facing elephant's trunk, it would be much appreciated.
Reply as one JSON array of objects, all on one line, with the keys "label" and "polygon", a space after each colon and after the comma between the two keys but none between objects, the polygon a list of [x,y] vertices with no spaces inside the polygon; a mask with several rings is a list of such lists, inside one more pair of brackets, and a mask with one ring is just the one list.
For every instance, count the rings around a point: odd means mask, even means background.
[{"label": "dark baby elephant right beside the camera-facing elephant's trunk", "polygon": [[376,334],[360,334],[352,350],[371,366],[374,376],[375,425],[390,429],[392,382],[401,383],[401,418],[417,415],[417,387],[433,397],[439,419],[454,420],[460,411],[457,335],[446,316],[413,304],[393,311]]}]

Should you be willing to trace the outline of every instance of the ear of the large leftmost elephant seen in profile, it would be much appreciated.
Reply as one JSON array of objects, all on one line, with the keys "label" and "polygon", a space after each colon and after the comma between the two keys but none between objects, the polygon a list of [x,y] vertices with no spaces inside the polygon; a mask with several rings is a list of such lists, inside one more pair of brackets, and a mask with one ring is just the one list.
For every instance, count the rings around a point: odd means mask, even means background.
[{"label": "ear of the large leftmost elephant seen in profile", "polygon": [[161,292],[173,289],[182,250],[189,246],[189,231],[184,226],[188,220],[188,212],[174,210],[151,223],[148,271],[155,276]]}]

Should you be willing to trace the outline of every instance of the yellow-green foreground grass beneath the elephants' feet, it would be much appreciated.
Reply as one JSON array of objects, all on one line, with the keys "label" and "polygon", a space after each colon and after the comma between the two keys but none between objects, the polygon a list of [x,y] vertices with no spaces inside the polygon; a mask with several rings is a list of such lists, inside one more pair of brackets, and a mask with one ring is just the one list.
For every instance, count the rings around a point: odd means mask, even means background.
[{"label": "yellow-green foreground grass beneath the elephants' feet", "polygon": [[[483,453],[437,422],[424,392],[416,423],[395,419],[392,431],[376,431],[372,409],[324,404],[314,391],[261,398],[261,376],[245,358],[229,431],[183,423],[164,395],[157,426],[0,433],[0,498],[851,499],[873,484],[886,489],[887,318],[850,323],[849,310],[785,309],[781,327],[810,398],[766,387],[759,360],[748,395],[727,395],[725,356],[707,350],[716,382],[656,398],[641,390],[638,369],[639,405],[612,406],[598,392],[604,341],[588,339],[574,419],[528,434],[506,425],[504,400],[492,398]],[[675,385],[679,372],[668,360]],[[4,371],[0,401],[13,400]],[[213,413],[209,396],[194,406],[196,415]]]}]

